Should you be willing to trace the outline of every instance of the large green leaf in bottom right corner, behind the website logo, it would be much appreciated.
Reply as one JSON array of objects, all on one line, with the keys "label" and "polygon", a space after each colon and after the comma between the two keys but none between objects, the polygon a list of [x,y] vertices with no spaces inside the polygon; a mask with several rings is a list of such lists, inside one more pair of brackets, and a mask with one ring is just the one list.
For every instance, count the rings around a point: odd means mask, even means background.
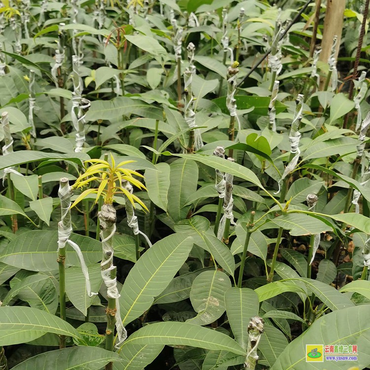
[{"label": "large green leaf in bottom right corner, behind the website logo", "polygon": [[[361,319],[360,319],[361,318]],[[332,328],[332,330],[331,330]],[[333,330],[336,328],[336,330]],[[359,356],[355,366],[364,369],[370,365],[370,353],[366,350],[370,341],[370,310],[369,305],[349,307],[331,312],[315,320],[311,327],[293,340],[280,354],[271,370],[347,370],[348,361],[312,362],[307,366],[306,345],[357,345]]]}]

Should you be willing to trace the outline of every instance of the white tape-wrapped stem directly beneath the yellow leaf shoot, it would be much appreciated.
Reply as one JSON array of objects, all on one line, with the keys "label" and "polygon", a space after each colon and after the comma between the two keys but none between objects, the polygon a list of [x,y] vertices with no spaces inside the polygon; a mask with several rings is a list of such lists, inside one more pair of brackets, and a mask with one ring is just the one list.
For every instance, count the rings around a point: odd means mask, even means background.
[{"label": "white tape-wrapped stem directly beneath the yellow leaf shoot", "polygon": [[118,349],[122,346],[123,342],[127,338],[127,331],[122,323],[121,313],[119,309],[120,297],[117,289],[116,277],[111,277],[111,271],[116,269],[113,265],[113,248],[112,248],[112,237],[115,233],[116,227],[116,215],[114,207],[111,204],[104,204],[102,210],[98,214],[100,220],[100,238],[103,247],[104,259],[101,262],[101,275],[105,286],[107,287],[107,296],[111,299],[115,299],[116,314],[115,314],[115,328],[117,330],[118,341],[115,344],[115,348]]}]

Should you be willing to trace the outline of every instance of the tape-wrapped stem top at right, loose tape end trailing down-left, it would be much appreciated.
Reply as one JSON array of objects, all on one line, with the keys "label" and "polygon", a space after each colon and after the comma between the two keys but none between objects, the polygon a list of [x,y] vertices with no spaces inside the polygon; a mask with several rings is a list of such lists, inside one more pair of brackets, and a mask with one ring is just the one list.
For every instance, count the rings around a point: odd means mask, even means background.
[{"label": "tape-wrapped stem top at right, loose tape end trailing down-left", "polygon": [[295,156],[292,158],[292,160],[288,163],[287,167],[285,167],[283,175],[281,176],[281,179],[279,180],[279,189],[274,194],[279,194],[281,190],[281,184],[283,180],[296,168],[296,165],[298,163],[300,150],[298,148],[299,146],[299,140],[300,140],[300,132],[299,129],[299,123],[302,119],[302,111],[303,111],[303,95],[298,94],[297,100],[296,100],[296,111],[293,115],[293,122],[291,126],[291,131],[289,134],[289,141],[291,142],[291,153],[295,154]]}]

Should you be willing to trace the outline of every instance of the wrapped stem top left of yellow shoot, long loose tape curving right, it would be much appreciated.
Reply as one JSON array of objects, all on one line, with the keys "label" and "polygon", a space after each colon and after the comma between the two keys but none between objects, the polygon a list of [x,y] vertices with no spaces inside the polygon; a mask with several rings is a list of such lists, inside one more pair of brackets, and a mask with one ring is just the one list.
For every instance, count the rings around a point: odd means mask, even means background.
[{"label": "wrapped stem top left of yellow shoot, long loose tape curving right", "polygon": [[72,233],[72,222],[71,222],[71,196],[72,188],[69,185],[67,178],[60,179],[58,196],[60,198],[61,205],[61,221],[58,222],[58,251],[62,248],[66,248],[68,243],[76,252],[78,259],[81,264],[83,276],[85,277],[86,292],[89,297],[96,296],[98,293],[91,292],[89,273],[87,270],[86,263],[83,259],[83,255],[78,245],[70,240]]}]

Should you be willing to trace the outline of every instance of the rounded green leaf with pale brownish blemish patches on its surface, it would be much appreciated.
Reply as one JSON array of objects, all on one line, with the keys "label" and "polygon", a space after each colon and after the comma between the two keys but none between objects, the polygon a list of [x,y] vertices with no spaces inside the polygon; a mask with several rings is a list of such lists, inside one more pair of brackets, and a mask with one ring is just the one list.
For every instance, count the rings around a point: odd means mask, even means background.
[{"label": "rounded green leaf with pale brownish blemish patches on its surface", "polygon": [[193,282],[190,301],[198,313],[188,323],[207,325],[219,319],[225,312],[225,291],[231,287],[229,277],[218,270],[204,271]]}]

